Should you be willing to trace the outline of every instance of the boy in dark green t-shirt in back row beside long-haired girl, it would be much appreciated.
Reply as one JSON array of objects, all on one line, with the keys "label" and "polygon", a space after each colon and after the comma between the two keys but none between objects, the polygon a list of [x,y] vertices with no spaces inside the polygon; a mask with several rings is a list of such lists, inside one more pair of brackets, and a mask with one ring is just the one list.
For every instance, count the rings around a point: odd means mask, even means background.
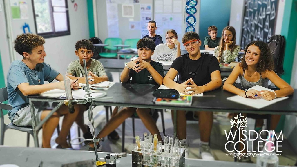
[{"label": "boy in dark green t-shirt in back row beside long-haired girl", "polygon": [[219,46],[220,44],[220,37],[217,37],[218,28],[216,26],[209,26],[208,27],[208,35],[205,37],[203,46],[205,50],[214,51],[214,48]]}]

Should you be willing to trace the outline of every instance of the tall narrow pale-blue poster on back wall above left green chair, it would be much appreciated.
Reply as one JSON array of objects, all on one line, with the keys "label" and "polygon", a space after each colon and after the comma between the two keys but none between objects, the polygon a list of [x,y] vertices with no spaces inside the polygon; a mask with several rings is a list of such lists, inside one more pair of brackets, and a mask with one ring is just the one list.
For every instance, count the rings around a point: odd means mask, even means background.
[{"label": "tall narrow pale-blue poster on back wall above left green chair", "polygon": [[106,4],[108,37],[119,37],[118,4]]}]

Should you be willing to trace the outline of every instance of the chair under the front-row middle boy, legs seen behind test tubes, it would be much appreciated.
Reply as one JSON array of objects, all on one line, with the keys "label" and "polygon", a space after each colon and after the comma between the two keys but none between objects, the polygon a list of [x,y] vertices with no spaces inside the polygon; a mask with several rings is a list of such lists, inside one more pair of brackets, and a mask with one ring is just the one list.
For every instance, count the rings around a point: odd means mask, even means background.
[{"label": "chair under the front-row middle boy, legs seen behind test tubes", "polygon": [[[161,120],[162,120],[162,128],[163,128],[163,136],[166,136],[165,134],[165,123],[164,123],[164,115],[163,115],[163,110],[162,109],[151,109],[152,112],[152,117],[155,120],[155,122],[157,122],[157,119],[159,117],[158,112],[161,113]],[[132,116],[130,116],[130,118],[132,118],[132,128],[133,128],[133,136],[135,138],[135,118],[139,118],[138,115],[135,113]],[[125,123],[126,121],[124,121],[122,123],[122,152],[125,152]]]}]

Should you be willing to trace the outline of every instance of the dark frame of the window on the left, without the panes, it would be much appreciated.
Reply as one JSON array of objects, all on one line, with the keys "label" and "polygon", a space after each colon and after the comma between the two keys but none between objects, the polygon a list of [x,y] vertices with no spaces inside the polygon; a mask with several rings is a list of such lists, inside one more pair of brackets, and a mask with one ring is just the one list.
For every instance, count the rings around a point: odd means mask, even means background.
[{"label": "dark frame of the window on the left, without the panes", "polygon": [[[37,35],[42,36],[43,38],[51,38],[51,37],[59,37],[59,36],[65,36],[65,35],[70,35],[70,20],[69,20],[69,9],[68,9],[68,2],[67,0],[65,1],[65,13],[66,13],[66,18],[67,18],[67,31],[59,31],[56,32],[56,28],[55,28],[55,22],[54,22],[54,18],[53,18],[53,5],[52,5],[52,1],[48,0],[49,3],[49,10],[50,10],[50,19],[52,22],[52,27],[53,27],[53,32],[46,32],[46,33],[38,33],[37,32],[37,23],[36,23],[36,17],[35,17],[35,7],[34,7],[34,0],[32,0],[32,6],[33,6],[33,15],[34,15],[34,23],[35,23],[35,31]],[[59,6],[56,6],[59,7]]]}]

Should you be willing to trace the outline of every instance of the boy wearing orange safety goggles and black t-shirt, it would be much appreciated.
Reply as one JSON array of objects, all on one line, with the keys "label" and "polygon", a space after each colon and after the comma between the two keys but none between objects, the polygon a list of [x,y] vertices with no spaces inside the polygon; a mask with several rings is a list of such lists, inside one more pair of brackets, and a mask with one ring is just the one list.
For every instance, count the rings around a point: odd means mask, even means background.
[{"label": "boy wearing orange safety goggles and black t-shirt", "polygon": [[[222,79],[220,67],[216,57],[200,53],[201,41],[195,32],[187,32],[182,38],[182,42],[188,51],[181,57],[176,58],[163,84],[171,89],[176,89],[184,94],[199,94],[221,87]],[[174,78],[179,74],[179,81],[174,82]],[[190,87],[190,89],[186,89]],[[191,93],[189,93],[191,91]],[[177,136],[182,144],[187,144],[186,134],[186,111],[177,111]],[[198,113],[197,113],[198,114]],[[199,129],[201,136],[200,155],[202,159],[214,160],[208,146],[213,123],[212,112],[199,112]]]}]

